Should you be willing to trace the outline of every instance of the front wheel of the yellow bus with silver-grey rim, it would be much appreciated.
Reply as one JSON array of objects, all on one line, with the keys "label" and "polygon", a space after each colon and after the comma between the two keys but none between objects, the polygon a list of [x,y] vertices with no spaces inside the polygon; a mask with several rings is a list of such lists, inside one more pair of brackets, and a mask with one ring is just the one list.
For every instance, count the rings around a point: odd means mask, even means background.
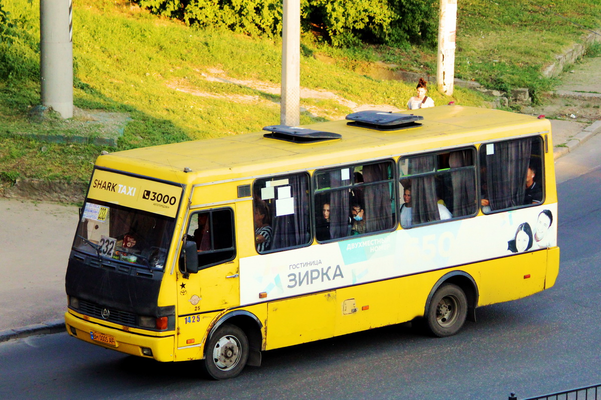
[{"label": "front wheel of the yellow bus with silver-grey rim", "polygon": [[248,360],[248,338],[239,327],[223,324],[209,338],[204,350],[204,366],[216,380],[236,377]]}]

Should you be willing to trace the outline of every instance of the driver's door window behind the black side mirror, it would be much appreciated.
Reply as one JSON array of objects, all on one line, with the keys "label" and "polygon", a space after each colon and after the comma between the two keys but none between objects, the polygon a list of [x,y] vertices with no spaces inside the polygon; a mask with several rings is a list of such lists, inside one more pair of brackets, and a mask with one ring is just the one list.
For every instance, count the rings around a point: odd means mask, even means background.
[{"label": "driver's door window behind the black side mirror", "polygon": [[198,267],[230,261],[236,256],[234,246],[234,214],[231,208],[192,214],[188,240],[196,242]]}]

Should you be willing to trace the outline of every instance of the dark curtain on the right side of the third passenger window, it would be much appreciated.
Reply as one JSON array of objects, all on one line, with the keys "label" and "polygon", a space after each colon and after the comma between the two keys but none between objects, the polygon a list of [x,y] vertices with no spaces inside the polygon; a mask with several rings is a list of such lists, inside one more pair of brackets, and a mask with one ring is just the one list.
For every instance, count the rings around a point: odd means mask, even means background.
[{"label": "dark curtain on the right side of the third passenger window", "polygon": [[[460,168],[474,165],[474,152],[472,150],[452,151],[449,157],[449,166]],[[453,187],[453,216],[463,217],[471,215],[476,210],[476,180],[474,169],[451,171],[451,186]]]}]

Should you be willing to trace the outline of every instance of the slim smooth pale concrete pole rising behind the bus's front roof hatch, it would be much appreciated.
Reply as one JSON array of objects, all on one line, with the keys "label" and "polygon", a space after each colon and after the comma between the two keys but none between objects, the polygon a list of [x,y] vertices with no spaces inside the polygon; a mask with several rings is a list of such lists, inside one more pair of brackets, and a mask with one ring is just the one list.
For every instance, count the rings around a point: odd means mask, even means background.
[{"label": "slim smooth pale concrete pole rising behind the bus's front roof hatch", "polygon": [[282,21],[282,105],[279,123],[301,122],[301,1],[284,0]]}]

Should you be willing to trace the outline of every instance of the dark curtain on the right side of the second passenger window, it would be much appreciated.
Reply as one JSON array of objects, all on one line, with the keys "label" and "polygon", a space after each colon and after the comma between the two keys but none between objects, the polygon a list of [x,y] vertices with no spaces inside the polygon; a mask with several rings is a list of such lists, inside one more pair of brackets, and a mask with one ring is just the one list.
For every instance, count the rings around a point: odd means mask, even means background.
[{"label": "dark curtain on the right side of the second passenger window", "polygon": [[384,231],[392,226],[392,197],[390,192],[389,163],[371,164],[363,167],[364,182],[385,181],[364,187],[365,224],[367,232]]}]

